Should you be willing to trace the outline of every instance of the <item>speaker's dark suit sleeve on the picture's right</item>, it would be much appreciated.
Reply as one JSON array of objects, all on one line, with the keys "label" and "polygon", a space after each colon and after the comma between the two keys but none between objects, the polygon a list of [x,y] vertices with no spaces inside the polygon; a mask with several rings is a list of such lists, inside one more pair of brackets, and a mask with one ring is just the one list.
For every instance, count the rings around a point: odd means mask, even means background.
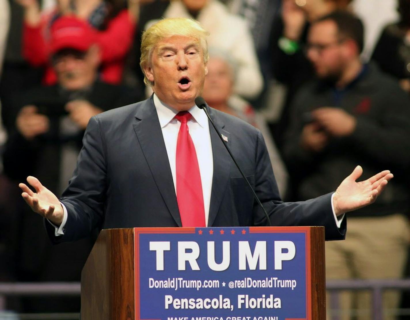
[{"label": "speaker's dark suit sleeve on the picture's right", "polygon": [[[257,137],[256,157],[255,190],[269,214],[272,225],[323,225],[326,240],[344,239],[346,218],[341,228],[337,228],[332,211],[331,193],[307,201],[282,202],[269,162],[269,155],[260,132]],[[255,225],[266,225],[264,213],[257,204],[253,210],[253,223]]]}]

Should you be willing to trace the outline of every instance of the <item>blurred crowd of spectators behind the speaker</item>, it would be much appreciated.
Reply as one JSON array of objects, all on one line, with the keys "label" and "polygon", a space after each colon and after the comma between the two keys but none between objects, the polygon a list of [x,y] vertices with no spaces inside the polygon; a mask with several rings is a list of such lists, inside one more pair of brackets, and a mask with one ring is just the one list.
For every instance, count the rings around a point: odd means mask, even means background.
[{"label": "blurred crowd of spectators behind the speaker", "polygon": [[[210,32],[203,97],[260,129],[285,201],[334,191],[358,164],[364,179],[394,173],[348,214],[346,240],[326,243],[327,278],[410,277],[410,0],[0,0],[0,281],[80,280],[98,230],[52,246],[18,182],[33,175],[60,195],[89,119],[150,95],[140,39],[162,17]],[[344,310],[370,302],[340,297]],[[78,312],[80,301],[7,307]]]}]

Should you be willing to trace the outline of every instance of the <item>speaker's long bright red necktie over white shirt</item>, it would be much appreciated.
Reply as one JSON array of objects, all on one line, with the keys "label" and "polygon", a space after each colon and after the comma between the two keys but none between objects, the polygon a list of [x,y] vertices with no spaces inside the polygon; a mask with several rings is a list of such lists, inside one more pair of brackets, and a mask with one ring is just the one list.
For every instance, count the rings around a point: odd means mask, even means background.
[{"label": "speaker's long bright red necktie over white shirt", "polygon": [[191,117],[188,111],[175,116],[181,122],[176,151],[177,201],[182,227],[205,227],[201,176],[194,142],[187,125]]}]

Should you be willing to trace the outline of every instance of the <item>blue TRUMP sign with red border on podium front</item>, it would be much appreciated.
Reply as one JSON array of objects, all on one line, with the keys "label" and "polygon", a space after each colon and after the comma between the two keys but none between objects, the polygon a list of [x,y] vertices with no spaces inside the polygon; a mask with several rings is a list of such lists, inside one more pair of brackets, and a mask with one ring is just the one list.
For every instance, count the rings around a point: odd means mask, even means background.
[{"label": "blue TRUMP sign with red border on podium front", "polygon": [[134,228],[135,319],[312,319],[309,227]]}]

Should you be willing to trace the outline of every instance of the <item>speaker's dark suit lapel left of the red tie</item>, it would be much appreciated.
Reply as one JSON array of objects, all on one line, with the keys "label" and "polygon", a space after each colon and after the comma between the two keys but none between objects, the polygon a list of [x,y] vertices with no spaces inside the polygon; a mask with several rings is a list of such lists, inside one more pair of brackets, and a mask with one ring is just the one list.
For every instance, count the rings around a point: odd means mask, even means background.
[{"label": "speaker's dark suit lapel left of the red tie", "polygon": [[134,131],[137,134],[139,144],[144,152],[151,174],[154,177],[155,183],[169,212],[175,222],[179,226],[182,226],[171,167],[169,165],[164,137],[162,136],[162,130],[159,125],[152,96],[137,110],[135,117],[137,118],[137,123],[134,124]]}]

